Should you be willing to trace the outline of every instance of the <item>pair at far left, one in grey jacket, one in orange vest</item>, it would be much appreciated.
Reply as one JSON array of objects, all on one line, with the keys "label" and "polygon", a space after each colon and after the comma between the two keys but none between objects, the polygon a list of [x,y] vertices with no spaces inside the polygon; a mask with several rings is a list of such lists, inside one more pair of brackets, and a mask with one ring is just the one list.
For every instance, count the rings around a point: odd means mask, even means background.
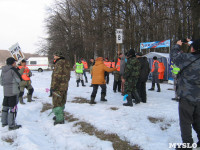
[{"label": "pair at far left, one in grey jacket, one in orange vest", "polygon": [[28,90],[27,101],[32,102],[33,87],[31,86],[32,73],[26,66],[26,60],[22,60],[19,66],[16,65],[16,60],[9,57],[6,60],[6,66],[2,68],[0,76],[0,84],[3,86],[4,99],[1,122],[2,126],[8,125],[9,130],[15,130],[21,127],[15,123],[17,116],[18,101],[25,104],[23,101],[24,89]]}]

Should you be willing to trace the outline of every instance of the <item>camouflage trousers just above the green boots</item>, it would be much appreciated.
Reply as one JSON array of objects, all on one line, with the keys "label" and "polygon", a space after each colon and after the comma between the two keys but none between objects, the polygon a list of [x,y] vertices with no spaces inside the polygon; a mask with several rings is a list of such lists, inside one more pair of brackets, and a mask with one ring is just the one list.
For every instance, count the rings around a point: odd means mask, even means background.
[{"label": "camouflage trousers just above the green boots", "polygon": [[67,91],[53,91],[53,108],[63,107],[66,104]]}]

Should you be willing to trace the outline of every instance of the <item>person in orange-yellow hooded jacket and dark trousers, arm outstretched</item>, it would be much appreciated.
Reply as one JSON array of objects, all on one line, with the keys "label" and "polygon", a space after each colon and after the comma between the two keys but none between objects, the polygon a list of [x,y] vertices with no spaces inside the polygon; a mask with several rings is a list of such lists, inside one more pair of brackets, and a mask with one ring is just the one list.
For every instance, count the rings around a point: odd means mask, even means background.
[{"label": "person in orange-yellow hooded jacket and dark trousers, arm outstretched", "polygon": [[116,71],[117,68],[108,68],[106,65],[103,63],[103,58],[98,57],[96,59],[95,65],[92,68],[92,85],[93,85],[93,91],[91,95],[91,101],[90,104],[96,104],[95,97],[97,94],[98,87],[100,86],[102,91],[101,91],[101,101],[107,101],[105,99],[106,96],[106,81],[105,81],[105,72],[112,72]]}]

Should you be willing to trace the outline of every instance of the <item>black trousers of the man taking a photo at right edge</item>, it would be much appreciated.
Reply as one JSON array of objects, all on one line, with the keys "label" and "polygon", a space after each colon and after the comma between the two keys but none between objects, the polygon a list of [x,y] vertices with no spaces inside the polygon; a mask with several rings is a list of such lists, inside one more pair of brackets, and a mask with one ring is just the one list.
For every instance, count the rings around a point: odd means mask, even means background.
[{"label": "black trousers of the man taking a photo at right edge", "polygon": [[193,144],[192,127],[200,141],[200,102],[180,99],[179,120],[183,143]]}]

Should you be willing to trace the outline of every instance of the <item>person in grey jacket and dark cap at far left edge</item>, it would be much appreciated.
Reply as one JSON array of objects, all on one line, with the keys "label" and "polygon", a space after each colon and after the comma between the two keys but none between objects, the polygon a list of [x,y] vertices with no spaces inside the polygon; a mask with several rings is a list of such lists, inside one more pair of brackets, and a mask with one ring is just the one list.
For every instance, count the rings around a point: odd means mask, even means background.
[{"label": "person in grey jacket and dark cap at far left edge", "polygon": [[6,66],[2,68],[0,84],[3,86],[4,99],[1,122],[2,127],[8,125],[9,130],[21,128],[21,125],[15,123],[17,116],[17,103],[19,95],[19,83],[22,78],[16,69],[16,61],[10,57],[6,60]]}]

